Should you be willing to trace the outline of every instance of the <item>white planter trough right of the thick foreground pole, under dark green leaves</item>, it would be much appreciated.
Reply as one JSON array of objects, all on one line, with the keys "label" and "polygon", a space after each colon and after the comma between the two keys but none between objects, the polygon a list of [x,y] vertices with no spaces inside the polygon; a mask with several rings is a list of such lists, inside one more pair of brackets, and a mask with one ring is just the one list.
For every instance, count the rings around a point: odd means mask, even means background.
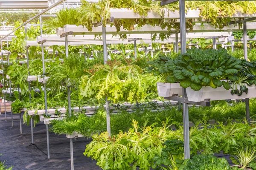
[{"label": "white planter trough right of the thick foreground pole, under dark green leaves", "polygon": [[248,93],[238,96],[237,94],[231,94],[231,90],[226,90],[224,87],[211,88],[210,86],[202,87],[199,91],[194,91],[191,88],[186,88],[186,94],[188,100],[192,102],[203,102],[209,99],[213,100],[227,100],[227,99],[244,99],[244,98],[254,98],[256,97],[256,86],[247,86]]}]

